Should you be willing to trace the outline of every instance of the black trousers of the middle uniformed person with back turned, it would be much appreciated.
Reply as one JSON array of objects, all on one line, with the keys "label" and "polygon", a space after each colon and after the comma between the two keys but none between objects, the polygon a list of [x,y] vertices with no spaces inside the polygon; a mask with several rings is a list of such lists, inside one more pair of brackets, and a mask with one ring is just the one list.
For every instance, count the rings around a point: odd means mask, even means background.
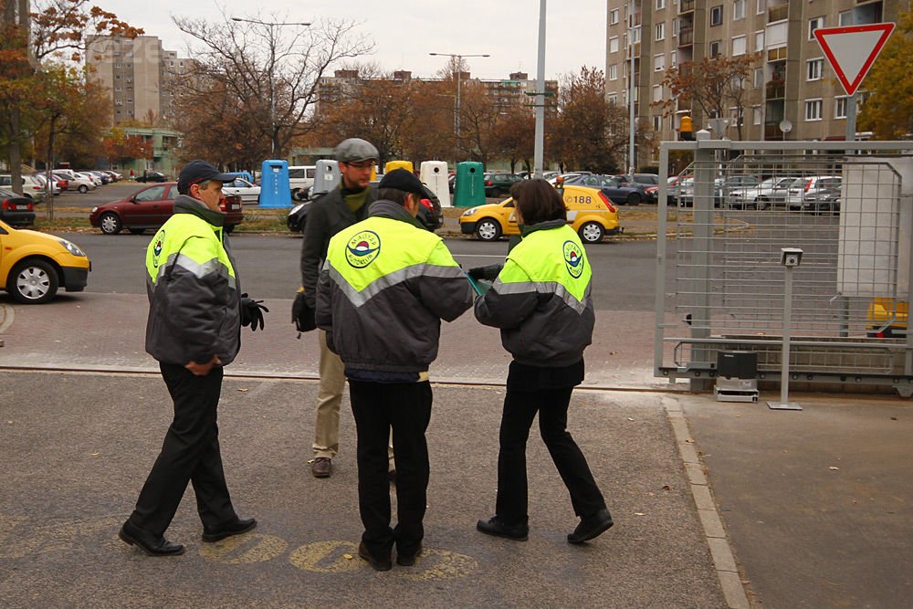
[{"label": "black trousers of the middle uniformed person with back turned", "polygon": [[[425,537],[431,383],[370,383],[349,380],[352,415],[358,431],[358,509],[362,541],[373,556],[418,550]],[[390,529],[387,440],[393,428],[396,455],[396,529]]]}]

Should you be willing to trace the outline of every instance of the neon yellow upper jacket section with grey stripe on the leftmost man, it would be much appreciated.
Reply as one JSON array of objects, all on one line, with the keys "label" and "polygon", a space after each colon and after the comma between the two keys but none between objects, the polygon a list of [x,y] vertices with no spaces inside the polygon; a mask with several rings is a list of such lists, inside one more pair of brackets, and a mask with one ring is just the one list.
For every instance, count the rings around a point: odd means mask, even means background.
[{"label": "neon yellow upper jacket section with grey stripe on the leftmost man", "polygon": [[[196,278],[220,273],[226,276],[228,286],[235,289],[235,268],[231,266],[217,230],[196,215],[173,215],[146,248],[146,280],[154,285],[171,268],[181,267]],[[214,242],[215,257],[212,255]]]}]

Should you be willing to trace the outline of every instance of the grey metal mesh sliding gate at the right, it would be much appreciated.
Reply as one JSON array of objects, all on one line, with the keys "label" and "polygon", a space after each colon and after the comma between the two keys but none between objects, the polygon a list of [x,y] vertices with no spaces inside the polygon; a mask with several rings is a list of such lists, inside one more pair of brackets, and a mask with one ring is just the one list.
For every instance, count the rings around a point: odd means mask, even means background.
[{"label": "grey metal mesh sliding gate at the right", "polygon": [[913,394],[913,143],[707,136],[660,151],[661,168],[672,151],[693,162],[675,184],[660,180],[656,376],[712,379],[717,352],[740,350],[758,353],[759,378],[779,380],[782,248],[800,248],[791,380]]}]

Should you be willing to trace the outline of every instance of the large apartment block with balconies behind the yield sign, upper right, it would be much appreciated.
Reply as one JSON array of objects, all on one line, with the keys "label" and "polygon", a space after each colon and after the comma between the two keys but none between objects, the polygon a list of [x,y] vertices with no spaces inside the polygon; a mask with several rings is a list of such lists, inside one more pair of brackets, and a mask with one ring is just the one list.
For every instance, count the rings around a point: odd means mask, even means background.
[{"label": "large apartment block with balconies behind the yield sign, upper right", "polygon": [[[908,8],[906,0],[607,0],[606,96],[627,107],[633,55],[637,124],[652,128],[660,140],[676,139],[684,116],[692,118],[695,131],[708,128],[710,119],[727,119],[725,132],[715,136],[732,140],[739,139],[739,122],[742,140],[843,140],[847,98],[813,32],[896,21]],[[702,116],[677,100],[664,115],[651,106],[669,97],[662,84],[667,68],[755,53],[741,111]],[[857,100],[865,100],[865,85]],[[638,166],[655,160],[650,151],[637,157]]]}]

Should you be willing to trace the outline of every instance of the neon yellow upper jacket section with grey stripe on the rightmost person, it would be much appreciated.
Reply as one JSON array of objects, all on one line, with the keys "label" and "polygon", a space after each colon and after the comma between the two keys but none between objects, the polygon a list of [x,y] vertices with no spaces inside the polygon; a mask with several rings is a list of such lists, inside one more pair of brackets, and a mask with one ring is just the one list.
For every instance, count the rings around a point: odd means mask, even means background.
[{"label": "neon yellow upper jacket section with grey stripe on the rightmost person", "polygon": [[498,294],[554,294],[582,313],[593,270],[580,237],[570,226],[537,230],[514,247],[495,281]]}]

